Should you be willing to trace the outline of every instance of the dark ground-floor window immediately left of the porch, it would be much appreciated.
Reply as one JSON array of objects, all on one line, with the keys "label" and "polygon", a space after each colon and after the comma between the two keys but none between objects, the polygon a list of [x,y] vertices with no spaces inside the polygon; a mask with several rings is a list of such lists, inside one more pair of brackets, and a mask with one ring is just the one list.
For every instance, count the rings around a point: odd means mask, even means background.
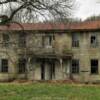
[{"label": "dark ground-floor window immediately left of the porch", "polygon": [[26,59],[19,59],[18,72],[19,73],[25,73],[26,72]]}]

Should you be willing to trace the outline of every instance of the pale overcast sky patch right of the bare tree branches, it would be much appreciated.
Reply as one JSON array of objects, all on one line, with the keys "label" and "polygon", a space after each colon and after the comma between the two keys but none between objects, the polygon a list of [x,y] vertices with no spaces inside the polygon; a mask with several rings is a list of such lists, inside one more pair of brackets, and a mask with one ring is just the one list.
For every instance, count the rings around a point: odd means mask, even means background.
[{"label": "pale overcast sky patch right of the bare tree branches", "polygon": [[91,15],[100,15],[100,0],[76,0],[77,9],[74,11],[74,17],[83,20]]}]

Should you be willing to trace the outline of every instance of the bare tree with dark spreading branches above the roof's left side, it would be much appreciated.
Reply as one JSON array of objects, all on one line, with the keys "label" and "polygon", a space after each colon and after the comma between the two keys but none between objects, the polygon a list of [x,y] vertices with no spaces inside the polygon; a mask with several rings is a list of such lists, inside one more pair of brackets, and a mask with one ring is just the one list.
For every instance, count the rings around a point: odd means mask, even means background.
[{"label": "bare tree with dark spreading branches above the roof's left side", "polygon": [[33,18],[38,21],[64,19],[71,14],[73,4],[73,0],[0,0],[1,11],[10,11],[9,15],[2,12],[0,15],[3,15],[2,23],[14,20],[18,13],[22,20],[30,22]]}]

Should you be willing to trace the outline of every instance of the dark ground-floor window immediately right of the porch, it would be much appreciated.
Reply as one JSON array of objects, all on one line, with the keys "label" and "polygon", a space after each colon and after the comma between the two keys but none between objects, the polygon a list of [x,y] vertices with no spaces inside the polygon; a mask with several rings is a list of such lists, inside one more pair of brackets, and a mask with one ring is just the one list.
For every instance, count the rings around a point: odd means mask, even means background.
[{"label": "dark ground-floor window immediately right of the porch", "polygon": [[79,73],[79,60],[74,59],[72,60],[72,69],[71,69],[73,74],[78,74]]}]

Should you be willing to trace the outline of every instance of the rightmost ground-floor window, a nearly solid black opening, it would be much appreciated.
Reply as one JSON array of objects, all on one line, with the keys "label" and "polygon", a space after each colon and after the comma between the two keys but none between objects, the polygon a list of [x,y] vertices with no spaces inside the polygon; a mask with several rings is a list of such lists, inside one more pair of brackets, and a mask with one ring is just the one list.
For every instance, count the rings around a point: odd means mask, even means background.
[{"label": "rightmost ground-floor window, a nearly solid black opening", "polygon": [[98,73],[98,60],[92,59],[91,60],[91,74]]}]

